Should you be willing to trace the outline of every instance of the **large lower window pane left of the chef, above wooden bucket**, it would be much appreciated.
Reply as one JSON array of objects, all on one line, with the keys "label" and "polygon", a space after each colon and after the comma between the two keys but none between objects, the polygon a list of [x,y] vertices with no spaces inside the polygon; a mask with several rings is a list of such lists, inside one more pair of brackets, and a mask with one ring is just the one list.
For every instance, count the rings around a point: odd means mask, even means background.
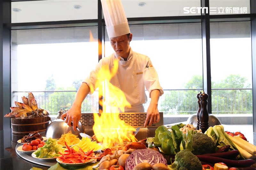
[{"label": "large lower window pane left of the chef, above wooden bucket", "polygon": [[[34,92],[39,107],[56,114],[69,109],[82,81],[98,63],[97,27],[13,30],[12,105]],[[49,92],[52,91],[52,92]],[[82,112],[98,112],[98,93],[88,96]]]}]

